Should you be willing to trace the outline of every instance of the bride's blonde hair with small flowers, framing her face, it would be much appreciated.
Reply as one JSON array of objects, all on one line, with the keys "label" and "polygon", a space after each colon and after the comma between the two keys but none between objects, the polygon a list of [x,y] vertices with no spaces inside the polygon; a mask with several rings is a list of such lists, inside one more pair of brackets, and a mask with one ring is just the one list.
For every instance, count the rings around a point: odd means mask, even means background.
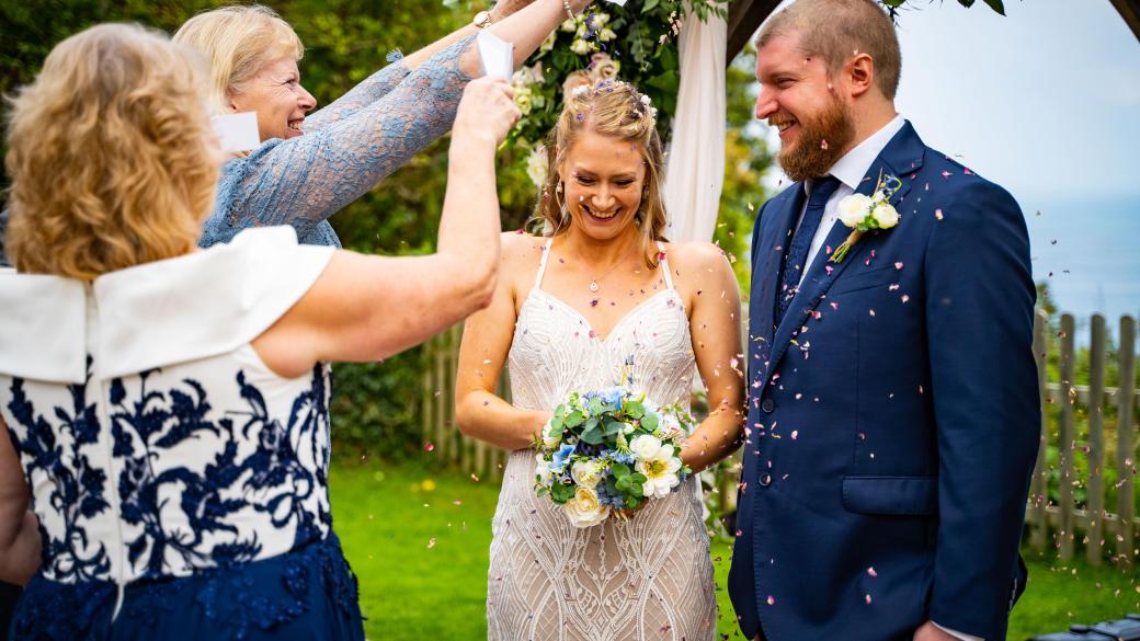
[{"label": "bride's blonde hair with small flowers, framing her face", "polygon": [[569,95],[559,121],[546,143],[547,178],[531,221],[543,234],[557,236],[569,229],[569,216],[559,189],[557,169],[565,164],[570,148],[584,131],[637,146],[645,162],[645,185],[634,220],[642,232],[640,251],[646,267],[657,267],[657,241],[667,241],[667,218],[661,194],[665,149],[657,132],[657,109],[633,84],[618,80],[592,80],[568,87]]}]

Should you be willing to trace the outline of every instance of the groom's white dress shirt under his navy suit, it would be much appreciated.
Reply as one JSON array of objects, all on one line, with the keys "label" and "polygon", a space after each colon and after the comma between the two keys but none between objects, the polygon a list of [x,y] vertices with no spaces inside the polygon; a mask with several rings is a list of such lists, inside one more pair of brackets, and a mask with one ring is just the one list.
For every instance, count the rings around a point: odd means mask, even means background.
[{"label": "groom's white dress shirt under his navy suit", "polygon": [[[839,179],[839,187],[828,198],[828,204],[823,208],[823,219],[820,221],[820,228],[816,229],[815,236],[812,237],[812,244],[807,250],[807,262],[804,263],[805,268],[799,277],[800,283],[804,282],[804,276],[807,275],[806,266],[812,265],[812,261],[815,260],[815,254],[820,253],[820,249],[826,242],[828,235],[831,234],[831,228],[839,222],[839,201],[855,193],[860,182],[863,181],[863,177],[866,176],[866,172],[871,170],[871,165],[874,164],[874,159],[879,157],[882,149],[887,147],[887,143],[890,143],[890,139],[903,129],[904,124],[906,124],[906,120],[902,115],[896,114],[890,122],[882,125],[882,129],[856,145],[854,149],[847,152],[844,157],[839,159],[831,167],[829,173]],[[804,181],[804,193],[807,195],[812,193],[812,182],[811,179]],[[796,224],[797,229],[799,229],[800,222],[804,221],[804,213],[806,211],[807,198],[804,200],[804,208],[799,210],[799,221]],[[931,623],[946,634],[961,641],[984,641],[980,636],[958,632],[956,630],[940,626],[936,622]]]}]

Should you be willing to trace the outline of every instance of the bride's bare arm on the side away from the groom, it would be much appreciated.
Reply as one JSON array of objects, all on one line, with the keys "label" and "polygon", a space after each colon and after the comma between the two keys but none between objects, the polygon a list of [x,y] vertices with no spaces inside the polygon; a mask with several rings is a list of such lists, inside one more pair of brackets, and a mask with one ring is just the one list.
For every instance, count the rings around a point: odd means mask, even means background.
[{"label": "bride's bare arm on the side away from the groom", "polygon": [[[523,267],[534,271],[535,255],[529,236],[503,235],[504,274]],[[495,383],[511,350],[515,320],[511,282],[499,278],[491,305],[463,326],[455,378],[455,420],[459,431],[506,449],[531,445],[551,414],[520,409],[495,393]]]}]

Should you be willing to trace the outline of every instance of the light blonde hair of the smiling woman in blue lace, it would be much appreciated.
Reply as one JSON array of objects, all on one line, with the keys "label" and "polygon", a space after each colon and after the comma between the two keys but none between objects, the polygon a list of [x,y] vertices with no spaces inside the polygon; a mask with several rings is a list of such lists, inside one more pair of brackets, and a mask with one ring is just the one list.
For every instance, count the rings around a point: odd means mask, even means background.
[{"label": "light blonde hair of the smiling woman in blue lace", "polygon": [[304,46],[287,22],[261,5],[221,7],[186,21],[174,42],[210,58],[211,107],[228,113],[229,95],[241,92],[267,64],[290,56],[300,60]]}]

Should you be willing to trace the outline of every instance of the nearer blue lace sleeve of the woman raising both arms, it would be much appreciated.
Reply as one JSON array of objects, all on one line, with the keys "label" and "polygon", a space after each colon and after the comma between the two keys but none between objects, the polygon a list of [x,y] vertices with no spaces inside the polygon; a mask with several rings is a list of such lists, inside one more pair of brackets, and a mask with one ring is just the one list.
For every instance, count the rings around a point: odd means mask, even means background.
[{"label": "nearer blue lace sleeve of the woman raising both arms", "polygon": [[473,40],[435,54],[351,115],[229,161],[199,244],[228,242],[247,227],[292,225],[302,243],[340,245],[326,219],[451,128],[471,80],[461,57]]}]

